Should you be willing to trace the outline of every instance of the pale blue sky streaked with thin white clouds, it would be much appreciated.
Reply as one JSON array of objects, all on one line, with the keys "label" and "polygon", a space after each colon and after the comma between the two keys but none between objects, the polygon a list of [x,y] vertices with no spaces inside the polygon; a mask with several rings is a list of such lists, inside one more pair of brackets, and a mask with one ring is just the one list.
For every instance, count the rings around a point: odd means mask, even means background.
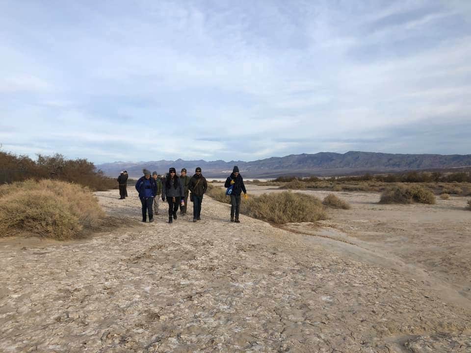
[{"label": "pale blue sky streaked with thin white clouds", "polygon": [[2,151],[465,154],[470,137],[469,0],[0,0]]}]

